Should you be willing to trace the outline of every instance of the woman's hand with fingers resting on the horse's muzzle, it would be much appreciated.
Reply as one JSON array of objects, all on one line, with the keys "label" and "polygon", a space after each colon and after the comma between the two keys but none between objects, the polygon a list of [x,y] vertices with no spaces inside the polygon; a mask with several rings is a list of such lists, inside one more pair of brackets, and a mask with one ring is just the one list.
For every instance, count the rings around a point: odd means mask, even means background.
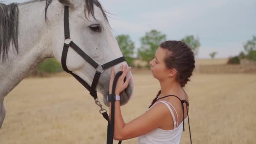
[{"label": "woman's hand with fingers resting on the horse's muzzle", "polygon": [[[124,82],[124,79],[130,70],[131,70],[131,67],[128,67],[127,65],[125,65],[125,67],[123,67],[123,64],[121,64],[120,68],[118,69],[118,72],[123,71],[123,74],[117,80],[117,85],[115,88],[115,95],[120,95],[120,93],[123,90],[125,90],[125,88],[127,88],[128,84],[131,80],[131,77],[126,79],[125,82]],[[114,67],[111,67],[111,77],[110,77],[110,81],[109,81],[109,94],[112,93],[112,86],[113,86],[114,78],[115,78],[115,69],[114,69]]]}]

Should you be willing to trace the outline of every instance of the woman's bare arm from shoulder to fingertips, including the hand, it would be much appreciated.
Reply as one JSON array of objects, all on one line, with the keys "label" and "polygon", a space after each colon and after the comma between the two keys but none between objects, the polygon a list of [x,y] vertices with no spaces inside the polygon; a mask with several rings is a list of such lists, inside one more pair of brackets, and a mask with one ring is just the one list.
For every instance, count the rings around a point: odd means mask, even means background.
[{"label": "woman's bare arm from shoulder to fingertips, including the hand", "polygon": [[[123,74],[118,78],[117,85],[115,89],[115,94],[119,95],[127,86],[130,78],[123,82],[123,79],[130,71],[131,68],[123,67],[121,65],[119,71],[123,71]],[[112,81],[115,77],[114,69],[112,68],[111,80],[109,85],[109,93],[112,90]],[[120,98],[122,99],[122,97]],[[109,112],[111,112],[111,104],[109,104]],[[120,109],[120,101],[115,101],[115,124],[114,124],[114,139],[115,140],[125,140],[125,139],[132,139],[137,136],[144,135],[153,131],[156,128],[161,127],[161,121],[166,118],[168,115],[169,110],[168,108],[162,104],[156,104],[154,107],[149,109],[147,112],[142,114],[141,116],[137,117],[136,119],[132,120],[129,123],[125,123],[123,120],[123,116],[121,114]],[[111,113],[109,113],[109,116]],[[110,119],[111,117],[109,117]]]}]

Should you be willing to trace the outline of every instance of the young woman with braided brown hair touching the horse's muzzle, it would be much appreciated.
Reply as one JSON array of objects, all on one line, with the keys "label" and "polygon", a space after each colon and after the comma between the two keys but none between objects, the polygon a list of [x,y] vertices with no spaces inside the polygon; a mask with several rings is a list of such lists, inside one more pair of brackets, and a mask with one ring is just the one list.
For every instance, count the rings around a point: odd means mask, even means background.
[{"label": "young woman with braided brown hair touching the horse's muzzle", "polygon": [[[120,102],[115,101],[114,139],[139,137],[138,144],[179,144],[184,120],[188,118],[189,99],[183,87],[195,68],[194,53],[181,41],[166,41],[157,49],[155,58],[149,64],[153,77],[160,82],[161,90],[147,112],[129,123],[124,122]],[[131,80],[128,78],[123,81],[130,70],[131,67],[127,65],[121,65],[119,68],[123,74],[117,80],[115,89],[117,98]],[[109,93],[112,90],[114,77],[112,68]]]}]

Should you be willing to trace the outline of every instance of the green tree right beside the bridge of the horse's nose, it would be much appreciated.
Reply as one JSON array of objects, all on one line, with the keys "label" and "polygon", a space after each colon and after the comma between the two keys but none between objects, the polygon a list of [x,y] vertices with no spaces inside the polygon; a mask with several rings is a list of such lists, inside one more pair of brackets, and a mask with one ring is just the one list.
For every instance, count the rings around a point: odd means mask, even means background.
[{"label": "green tree right beside the bridge of the horse's nose", "polygon": [[117,35],[116,37],[119,48],[125,57],[129,66],[133,65],[134,43],[129,35]]}]

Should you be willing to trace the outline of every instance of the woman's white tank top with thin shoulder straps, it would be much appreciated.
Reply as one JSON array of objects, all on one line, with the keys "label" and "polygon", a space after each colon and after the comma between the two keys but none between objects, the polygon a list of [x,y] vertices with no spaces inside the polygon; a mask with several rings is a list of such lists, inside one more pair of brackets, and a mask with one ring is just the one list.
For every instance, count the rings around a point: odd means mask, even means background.
[{"label": "woman's white tank top with thin shoulder straps", "polygon": [[[157,103],[164,103],[168,109],[171,112],[171,115],[173,117],[174,122],[174,129],[173,130],[162,130],[160,128],[157,128],[145,135],[139,136],[138,143],[137,144],[179,144],[181,141],[181,134],[183,130],[183,121],[180,123],[180,125],[177,127],[177,122],[179,121],[178,114],[176,112],[176,109],[173,107],[172,104],[170,104],[168,101],[159,101]],[[155,104],[157,104],[155,103]],[[155,105],[153,104],[152,107]],[[173,111],[171,107],[174,109],[176,115],[177,115],[177,121],[175,120],[175,116],[173,114]],[[150,107],[151,108],[151,107]],[[149,108],[149,109],[150,109]],[[187,120],[187,117],[185,121]]]}]

